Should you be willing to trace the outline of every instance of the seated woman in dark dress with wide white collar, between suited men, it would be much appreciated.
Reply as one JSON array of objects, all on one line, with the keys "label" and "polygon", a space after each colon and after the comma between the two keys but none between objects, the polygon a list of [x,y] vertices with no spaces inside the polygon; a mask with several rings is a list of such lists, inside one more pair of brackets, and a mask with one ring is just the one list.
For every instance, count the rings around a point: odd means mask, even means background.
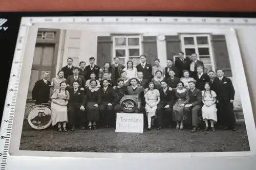
[{"label": "seated woman in dark dress with wide white collar, between suited men", "polygon": [[96,80],[90,81],[90,86],[86,88],[86,98],[87,98],[87,120],[89,121],[88,129],[96,129],[96,122],[99,121],[99,104],[101,102],[99,88],[97,87]]}]

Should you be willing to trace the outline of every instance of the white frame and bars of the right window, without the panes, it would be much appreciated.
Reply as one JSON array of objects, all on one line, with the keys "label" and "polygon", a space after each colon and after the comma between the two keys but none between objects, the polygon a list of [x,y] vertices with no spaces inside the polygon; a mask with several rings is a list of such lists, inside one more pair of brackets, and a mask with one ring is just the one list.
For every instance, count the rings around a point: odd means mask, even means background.
[{"label": "white frame and bars of the right window, without the panes", "polygon": [[[194,44],[193,45],[185,45],[184,38],[188,38],[188,37],[191,37],[191,38],[193,37],[194,38]],[[197,37],[207,37],[208,44],[197,44]],[[210,34],[182,34],[182,35],[180,35],[180,38],[181,38],[182,52],[184,53],[185,56],[186,56],[185,48],[195,48],[196,49],[196,54],[198,55],[198,59],[200,60],[198,48],[201,48],[201,47],[202,48],[203,47],[209,48],[209,56],[210,56],[211,68],[212,68],[212,70],[215,70],[215,59],[214,59],[214,55],[213,55],[213,52],[212,52],[212,45],[211,45],[211,36],[210,36]],[[205,64],[205,65],[209,65],[209,64]]]}]

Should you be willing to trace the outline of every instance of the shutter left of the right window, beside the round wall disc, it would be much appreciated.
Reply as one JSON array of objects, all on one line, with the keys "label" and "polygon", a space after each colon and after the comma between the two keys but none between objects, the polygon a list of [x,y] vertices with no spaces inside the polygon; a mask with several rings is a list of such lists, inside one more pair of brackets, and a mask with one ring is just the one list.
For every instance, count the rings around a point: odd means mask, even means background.
[{"label": "shutter left of the right window, beside the round wall disc", "polygon": [[174,56],[179,55],[179,52],[181,51],[180,36],[165,36],[165,42],[167,59],[174,60]]}]

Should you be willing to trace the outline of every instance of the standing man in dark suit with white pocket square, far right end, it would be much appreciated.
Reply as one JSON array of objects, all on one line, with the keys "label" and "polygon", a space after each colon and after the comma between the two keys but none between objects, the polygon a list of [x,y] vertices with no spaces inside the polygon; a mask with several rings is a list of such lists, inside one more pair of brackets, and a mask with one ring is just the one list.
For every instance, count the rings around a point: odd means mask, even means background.
[{"label": "standing man in dark suit with white pocket square, far right end", "polygon": [[224,129],[236,131],[236,118],[234,117],[234,87],[232,81],[224,76],[221,69],[217,70],[217,78],[213,83],[213,88],[217,94],[218,103],[218,123],[224,125]]}]

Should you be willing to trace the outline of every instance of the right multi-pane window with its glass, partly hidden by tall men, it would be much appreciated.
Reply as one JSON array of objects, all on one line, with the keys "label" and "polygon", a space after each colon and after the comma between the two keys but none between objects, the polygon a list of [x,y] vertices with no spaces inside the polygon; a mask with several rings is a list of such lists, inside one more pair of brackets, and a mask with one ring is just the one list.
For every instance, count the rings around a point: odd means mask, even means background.
[{"label": "right multi-pane window with its glass, partly hidden by tall men", "polygon": [[215,70],[210,35],[181,35],[182,51],[186,57],[196,53],[206,67],[206,71]]}]

